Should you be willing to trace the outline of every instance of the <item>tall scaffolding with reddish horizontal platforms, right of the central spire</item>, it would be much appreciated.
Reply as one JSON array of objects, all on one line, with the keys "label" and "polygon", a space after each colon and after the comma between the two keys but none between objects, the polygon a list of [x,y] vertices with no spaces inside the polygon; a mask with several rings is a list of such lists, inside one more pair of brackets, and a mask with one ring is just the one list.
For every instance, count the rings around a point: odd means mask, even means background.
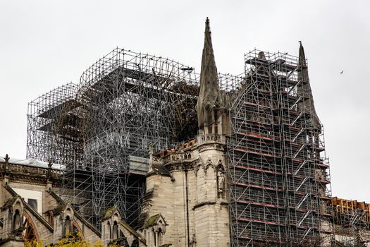
[{"label": "tall scaffolding with reddish horizontal platforms, right of the central spire", "polygon": [[230,109],[231,246],[330,243],[328,159],[301,49],[245,55]]}]

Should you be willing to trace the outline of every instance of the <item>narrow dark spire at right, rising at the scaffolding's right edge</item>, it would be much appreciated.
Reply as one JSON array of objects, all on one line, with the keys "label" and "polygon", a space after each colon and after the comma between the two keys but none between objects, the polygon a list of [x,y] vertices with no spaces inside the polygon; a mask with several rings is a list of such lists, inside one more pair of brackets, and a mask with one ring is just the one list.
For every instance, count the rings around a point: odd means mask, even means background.
[{"label": "narrow dark spire at right, rising at the scaffolding's right edge", "polygon": [[316,109],[314,105],[314,97],[312,96],[311,85],[309,85],[309,74],[308,67],[306,63],[306,56],[304,55],[304,49],[302,42],[300,42],[300,53],[298,58],[298,65],[300,70],[298,71],[298,81],[300,84],[297,88],[297,95],[303,97],[309,97],[309,99],[302,102],[302,107],[312,114],[312,123],[319,129],[321,129],[321,122],[319,116],[316,114]]}]

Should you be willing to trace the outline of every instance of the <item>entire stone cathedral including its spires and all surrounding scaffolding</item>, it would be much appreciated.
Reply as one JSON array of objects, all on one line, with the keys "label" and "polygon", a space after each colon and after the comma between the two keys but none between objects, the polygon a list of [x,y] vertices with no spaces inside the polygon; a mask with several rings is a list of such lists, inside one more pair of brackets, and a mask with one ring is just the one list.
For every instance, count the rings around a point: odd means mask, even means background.
[{"label": "entire stone cathedral including its spires and all surrounding scaffolding", "polygon": [[254,50],[244,76],[223,75],[207,18],[199,80],[161,57],[110,55],[30,103],[27,159],[0,157],[0,246],[370,241],[370,205],[331,196],[302,44],[298,57]]}]

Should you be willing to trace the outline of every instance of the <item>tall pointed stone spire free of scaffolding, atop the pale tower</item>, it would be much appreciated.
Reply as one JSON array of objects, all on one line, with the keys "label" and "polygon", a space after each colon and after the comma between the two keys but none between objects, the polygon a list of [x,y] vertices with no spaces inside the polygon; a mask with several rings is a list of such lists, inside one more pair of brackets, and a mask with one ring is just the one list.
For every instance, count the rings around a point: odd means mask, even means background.
[{"label": "tall pointed stone spire free of scaffolding, atop the pale tower", "polygon": [[216,62],[214,61],[209,18],[207,17],[206,30],[204,31],[202,67],[200,71],[200,90],[197,102],[199,129],[209,126],[216,121],[214,111],[218,106],[219,98],[218,74]]}]

